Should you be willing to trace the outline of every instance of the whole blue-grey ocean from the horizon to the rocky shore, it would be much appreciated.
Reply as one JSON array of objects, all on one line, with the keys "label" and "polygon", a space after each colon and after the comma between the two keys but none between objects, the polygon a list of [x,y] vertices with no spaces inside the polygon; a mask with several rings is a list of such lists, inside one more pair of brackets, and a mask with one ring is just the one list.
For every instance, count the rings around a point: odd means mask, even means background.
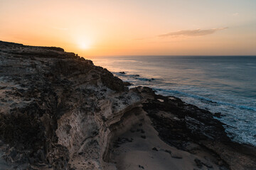
[{"label": "whole blue-grey ocean from the horizon to the rocky shore", "polygon": [[[149,86],[213,113],[236,142],[256,146],[256,56],[90,58],[123,81]],[[120,72],[124,72],[122,74]]]}]

